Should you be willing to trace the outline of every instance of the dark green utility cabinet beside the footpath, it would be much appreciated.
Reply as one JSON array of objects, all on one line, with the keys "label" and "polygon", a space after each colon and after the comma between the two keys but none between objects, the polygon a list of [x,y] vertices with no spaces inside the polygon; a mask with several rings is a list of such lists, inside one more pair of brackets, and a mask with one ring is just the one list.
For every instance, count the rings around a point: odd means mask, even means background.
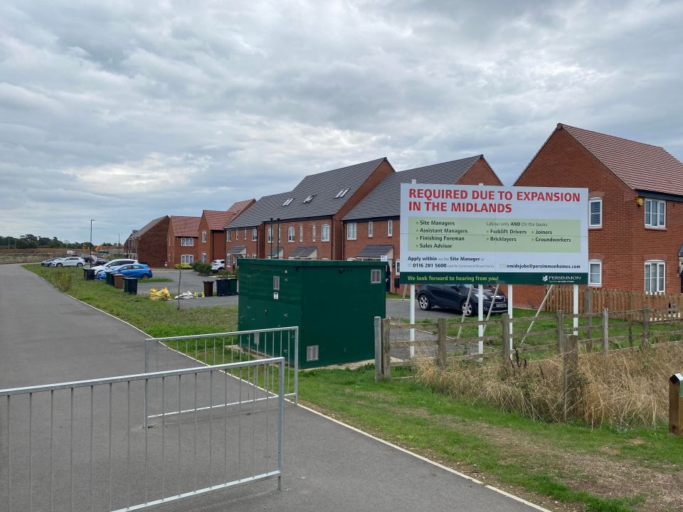
[{"label": "dark green utility cabinet beside the footpath", "polygon": [[385,277],[386,262],[240,260],[239,329],[299,326],[300,368],[373,359]]}]

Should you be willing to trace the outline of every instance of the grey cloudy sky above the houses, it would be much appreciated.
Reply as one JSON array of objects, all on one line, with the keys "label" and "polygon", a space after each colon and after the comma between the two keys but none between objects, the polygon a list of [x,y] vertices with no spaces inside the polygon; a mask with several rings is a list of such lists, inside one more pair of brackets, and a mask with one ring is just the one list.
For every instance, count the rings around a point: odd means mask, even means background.
[{"label": "grey cloudy sky above the houses", "polygon": [[0,235],[124,240],[387,156],[512,184],[558,122],[683,159],[682,1],[0,2]]}]

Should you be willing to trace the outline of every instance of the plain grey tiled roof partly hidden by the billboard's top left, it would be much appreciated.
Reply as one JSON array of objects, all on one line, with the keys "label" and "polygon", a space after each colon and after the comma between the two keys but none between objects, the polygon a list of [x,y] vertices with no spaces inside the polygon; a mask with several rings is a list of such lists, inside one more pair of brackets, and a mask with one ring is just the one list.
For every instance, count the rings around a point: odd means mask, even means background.
[{"label": "plain grey tiled roof partly hidden by the billboard's top left", "polygon": [[411,183],[413,179],[418,183],[457,183],[467,169],[482,156],[470,156],[389,174],[356,208],[346,214],[344,220],[398,217],[401,215],[401,183]]}]

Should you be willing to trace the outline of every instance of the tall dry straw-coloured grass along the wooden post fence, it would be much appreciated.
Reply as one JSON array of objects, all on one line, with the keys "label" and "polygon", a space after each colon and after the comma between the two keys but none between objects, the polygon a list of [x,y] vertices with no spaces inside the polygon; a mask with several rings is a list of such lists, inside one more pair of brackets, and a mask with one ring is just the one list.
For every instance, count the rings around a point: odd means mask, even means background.
[{"label": "tall dry straw-coloured grass along the wooden post fence", "polygon": [[[425,361],[418,379],[454,398],[494,402],[535,420],[563,420],[564,391],[561,356],[540,361],[511,361],[503,365],[453,363],[440,370]],[[571,418],[597,427],[654,427],[668,420],[668,378],[683,369],[683,344],[662,343],[642,351],[581,353],[576,402]]]}]

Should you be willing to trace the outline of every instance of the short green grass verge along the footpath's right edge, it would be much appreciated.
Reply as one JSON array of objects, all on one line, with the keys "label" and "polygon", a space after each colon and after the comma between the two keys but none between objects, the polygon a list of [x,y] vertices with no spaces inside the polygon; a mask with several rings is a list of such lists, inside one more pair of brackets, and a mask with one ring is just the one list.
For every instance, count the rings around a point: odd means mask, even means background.
[{"label": "short green grass verge along the footpath's right edge", "polygon": [[[26,265],[50,277],[55,269]],[[236,308],[176,309],[85,281],[69,293],[152,336],[236,328]],[[79,278],[80,277],[80,278]],[[49,280],[49,279],[48,279]],[[181,348],[181,347],[179,347]],[[374,367],[300,375],[300,400],[338,420],[558,511],[683,510],[683,438],[655,428],[551,424],[502,412],[482,400],[454,399],[418,382],[412,370],[374,382]]]}]

